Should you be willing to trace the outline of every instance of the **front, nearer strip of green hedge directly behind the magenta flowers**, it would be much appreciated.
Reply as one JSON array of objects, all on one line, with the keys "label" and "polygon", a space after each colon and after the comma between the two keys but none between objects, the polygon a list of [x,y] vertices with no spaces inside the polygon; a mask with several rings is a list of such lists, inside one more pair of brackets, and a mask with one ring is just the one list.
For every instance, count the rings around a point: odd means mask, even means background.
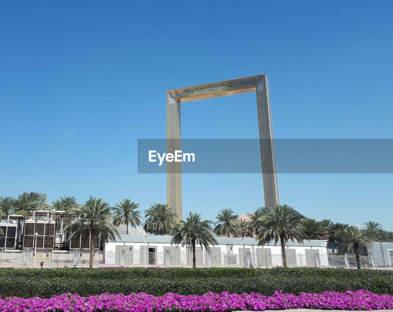
[{"label": "front, nearer strip of green hedge directly behind the magenta flowers", "polygon": [[393,294],[393,281],[389,277],[335,279],[320,277],[292,277],[282,279],[261,279],[259,277],[228,278],[211,277],[206,279],[71,279],[71,278],[39,278],[39,277],[2,277],[0,294],[18,297],[44,297],[62,293],[82,296],[98,295],[104,292],[130,294],[146,292],[152,295],[163,295],[174,292],[182,295],[220,293],[250,293],[272,295],[275,290],[285,293],[301,294],[302,292],[321,293],[326,290],[344,292],[345,290],[365,289],[376,294]]}]

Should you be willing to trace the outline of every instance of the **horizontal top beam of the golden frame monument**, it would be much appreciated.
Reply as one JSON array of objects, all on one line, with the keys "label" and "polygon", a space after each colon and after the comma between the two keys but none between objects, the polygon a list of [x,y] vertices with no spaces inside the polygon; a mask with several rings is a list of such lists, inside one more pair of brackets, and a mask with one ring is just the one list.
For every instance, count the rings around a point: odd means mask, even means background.
[{"label": "horizontal top beam of the golden frame monument", "polygon": [[168,90],[167,93],[172,94],[180,102],[189,102],[211,97],[253,92],[258,81],[264,77],[265,75],[257,75],[220,81],[218,83],[201,84],[199,86]]}]

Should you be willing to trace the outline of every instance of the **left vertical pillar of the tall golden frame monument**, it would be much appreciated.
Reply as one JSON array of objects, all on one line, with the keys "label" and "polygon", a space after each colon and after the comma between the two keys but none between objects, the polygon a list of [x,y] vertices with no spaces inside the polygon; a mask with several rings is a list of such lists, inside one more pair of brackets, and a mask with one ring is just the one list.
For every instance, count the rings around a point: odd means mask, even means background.
[{"label": "left vertical pillar of the tall golden frame monument", "polygon": [[[167,93],[167,153],[181,149],[180,101]],[[183,218],[181,162],[167,162],[167,204],[176,212],[179,223]]]}]

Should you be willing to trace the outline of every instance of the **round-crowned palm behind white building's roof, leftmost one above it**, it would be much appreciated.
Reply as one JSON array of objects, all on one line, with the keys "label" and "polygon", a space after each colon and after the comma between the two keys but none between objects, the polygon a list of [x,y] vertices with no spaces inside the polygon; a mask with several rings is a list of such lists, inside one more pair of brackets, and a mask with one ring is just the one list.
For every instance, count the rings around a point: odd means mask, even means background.
[{"label": "round-crowned palm behind white building's roof, leftmost one above it", "polygon": [[139,204],[131,202],[130,199],[123,199],[119,204],[115,204],[113,208],[113,224],[119,226],[120,224],[126,225],[126,235],[128,235],[128,226],[136,228],[141,224],[141,212],[136,210]]}]

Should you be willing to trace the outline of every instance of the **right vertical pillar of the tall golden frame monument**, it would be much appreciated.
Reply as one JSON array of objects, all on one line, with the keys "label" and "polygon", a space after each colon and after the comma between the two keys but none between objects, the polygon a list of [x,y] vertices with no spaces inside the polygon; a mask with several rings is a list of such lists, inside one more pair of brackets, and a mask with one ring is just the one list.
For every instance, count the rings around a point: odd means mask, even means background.
[{"label": "right vertical pillar of the tall golden frame monument", "polygon": [[269,81],[266,76],[258,80],[257,94],[259,142],[261,146],[263,189],[266,207],[279,205],[277,172],[275,167],[272,111],[270,108]]}]

